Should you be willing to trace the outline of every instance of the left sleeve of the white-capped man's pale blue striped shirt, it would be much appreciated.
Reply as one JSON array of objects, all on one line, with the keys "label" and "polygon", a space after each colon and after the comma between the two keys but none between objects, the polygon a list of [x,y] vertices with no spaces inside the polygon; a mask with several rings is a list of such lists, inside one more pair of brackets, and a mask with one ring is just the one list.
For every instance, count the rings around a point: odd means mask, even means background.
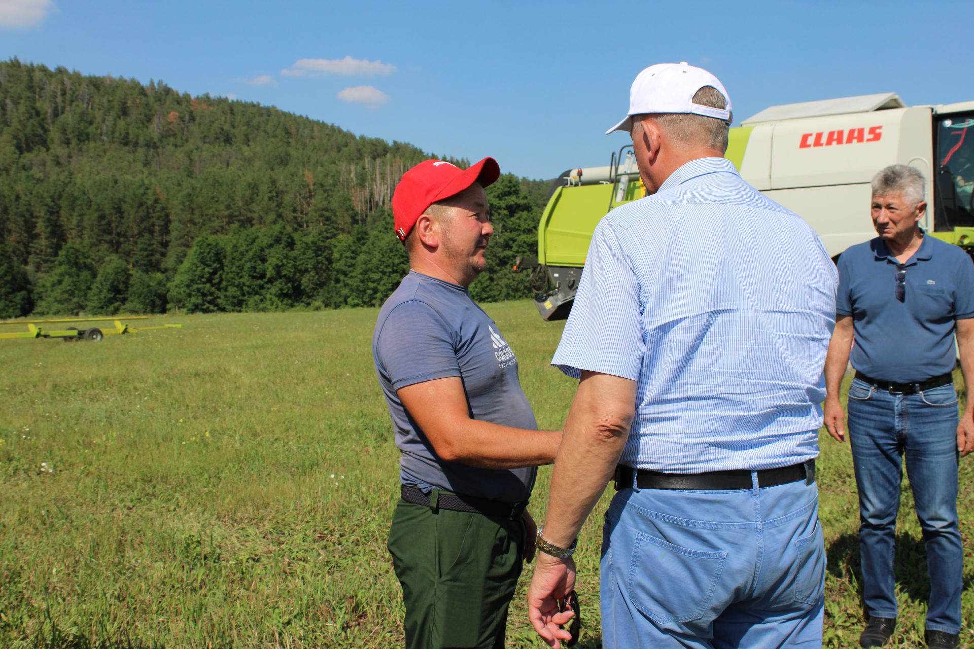
[{"label": "left sleeve of the white-capped man's pale blue striped shirt", "polygon": [[613,222],[602,219],[551,365],[575,379],[588,370],[638,380],[645,353],[639,280]]}]

